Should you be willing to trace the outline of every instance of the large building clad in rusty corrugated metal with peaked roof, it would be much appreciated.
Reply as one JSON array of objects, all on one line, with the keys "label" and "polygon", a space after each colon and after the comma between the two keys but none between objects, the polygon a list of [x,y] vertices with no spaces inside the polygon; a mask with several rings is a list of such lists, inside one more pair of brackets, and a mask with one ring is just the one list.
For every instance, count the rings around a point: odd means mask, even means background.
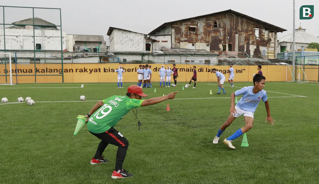
[{"label": "large building clad in rusty corrugated metal with peaked roof", "polygon": [[[171,36],[171,48],[205,49],[222,54],[277,55],[277,33],[286,29],[226,10],[167,22],[149,35]],[[229,52],[232,51],[232,52]]]}]

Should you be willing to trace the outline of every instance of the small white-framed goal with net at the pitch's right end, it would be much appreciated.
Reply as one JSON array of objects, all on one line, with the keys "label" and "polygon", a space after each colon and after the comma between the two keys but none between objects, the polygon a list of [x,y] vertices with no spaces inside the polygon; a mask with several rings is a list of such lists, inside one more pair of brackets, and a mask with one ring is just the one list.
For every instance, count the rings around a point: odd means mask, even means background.
[{"label": "small white-framed goal with net at the pitch's right end", "polygon": [[[293,67],[295,67],[294,69],[296,71],[295,77],[293,77]],[[301,65],[286,65],[286,82],[305,83],[309,81]]]}]

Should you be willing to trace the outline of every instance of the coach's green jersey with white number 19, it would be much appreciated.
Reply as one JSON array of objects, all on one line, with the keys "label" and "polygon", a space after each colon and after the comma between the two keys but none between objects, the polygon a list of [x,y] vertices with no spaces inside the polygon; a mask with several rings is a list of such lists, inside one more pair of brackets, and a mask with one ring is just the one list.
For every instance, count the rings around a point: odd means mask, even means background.
[{"label": "coach's green jersey with white number 19", "polygon": [[92,133],[102,133],[114,127],[131,109],[141,107],[144,100],[130,99],[128,96],[111,96],[104,99],[104,105],[95,111],[87,122]]}]

